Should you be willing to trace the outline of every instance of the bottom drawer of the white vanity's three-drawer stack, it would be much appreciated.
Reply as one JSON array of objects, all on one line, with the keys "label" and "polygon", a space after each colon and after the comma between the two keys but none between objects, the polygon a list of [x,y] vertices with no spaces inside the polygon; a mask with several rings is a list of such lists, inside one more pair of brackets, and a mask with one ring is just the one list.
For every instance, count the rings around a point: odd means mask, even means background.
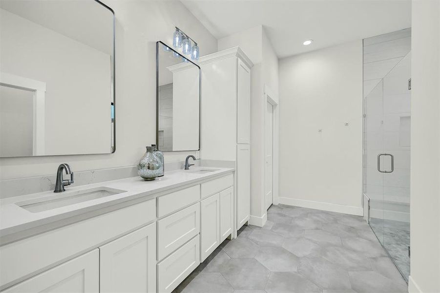
[{"label": "bottom drawer of the white vanity's three-drawer stack", "polygon": [[200,236],[157,264],[157,292],[170,293],[200,264]]}]

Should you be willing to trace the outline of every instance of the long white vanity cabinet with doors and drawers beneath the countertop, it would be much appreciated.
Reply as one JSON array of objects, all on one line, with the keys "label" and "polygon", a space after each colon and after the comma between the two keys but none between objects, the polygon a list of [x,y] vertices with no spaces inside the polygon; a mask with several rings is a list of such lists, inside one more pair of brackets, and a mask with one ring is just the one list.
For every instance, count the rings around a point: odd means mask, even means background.
[{"label": "long white vanity cabinet with doors and drawers beneath the countertop", "polygon": [[171,293],[232,234],[234,177],[149,196],[0,245],[0,292]]}]

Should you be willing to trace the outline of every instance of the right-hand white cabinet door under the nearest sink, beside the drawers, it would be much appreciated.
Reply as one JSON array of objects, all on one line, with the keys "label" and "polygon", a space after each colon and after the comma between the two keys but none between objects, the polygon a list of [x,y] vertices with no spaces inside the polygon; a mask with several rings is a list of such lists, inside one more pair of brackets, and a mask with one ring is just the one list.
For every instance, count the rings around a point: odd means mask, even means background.
[{"label": "right-hand white cabinet door under the nearest sink, beside the drawers", "polygon": [[156,223],[99,248],[101,293],[156,292]]}]

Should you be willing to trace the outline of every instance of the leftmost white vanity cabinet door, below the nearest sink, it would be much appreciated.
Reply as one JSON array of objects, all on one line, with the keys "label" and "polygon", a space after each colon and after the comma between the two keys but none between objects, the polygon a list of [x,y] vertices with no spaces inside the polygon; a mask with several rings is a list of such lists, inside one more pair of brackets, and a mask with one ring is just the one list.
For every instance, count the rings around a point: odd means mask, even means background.
[{"label": "leftmost white vanity cabinet door, below the nearest sink", "polygon": [[99,251],[87,252],[2,292],[98,293]]}]

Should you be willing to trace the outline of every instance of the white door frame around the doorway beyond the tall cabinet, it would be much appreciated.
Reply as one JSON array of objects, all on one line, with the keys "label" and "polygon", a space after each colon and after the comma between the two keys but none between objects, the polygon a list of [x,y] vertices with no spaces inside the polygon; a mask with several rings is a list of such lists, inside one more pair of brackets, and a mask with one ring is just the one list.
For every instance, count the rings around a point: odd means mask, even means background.
[{"label": "white door frame around the doorway beyond the tall cabinet", "polygon": [[[271,88],[264,85],[264,109],[266,104],[272,105],[272,204],[278,205],[279,203],[279,105],[278,96],[271,90]],[[266,129],[266,110],[264,111],[264,128]],[[266,142],[266,131],[263,134],[263,141]],[[264,151],[264,162],[266,156],[266,150]],[[264,164],[264,176],[266,176],[266,164]],[[263,177],[265,178],[265,177]],[[264,194],[263,206],[266,207],[266,194]]]}]

